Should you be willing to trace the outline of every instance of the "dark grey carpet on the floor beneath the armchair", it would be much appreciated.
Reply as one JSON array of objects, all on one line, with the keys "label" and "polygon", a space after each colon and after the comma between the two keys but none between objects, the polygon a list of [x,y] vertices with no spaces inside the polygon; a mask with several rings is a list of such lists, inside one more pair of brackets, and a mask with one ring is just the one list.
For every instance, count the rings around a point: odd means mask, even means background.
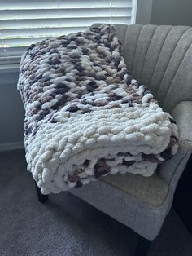
[{"label": "dark grey carpet on the floor beneath the armchair", "polygon": [[[68,192],[37,201],[24,152],[0,153],[1,256],[131,256],[137,235]],[[191,256],[192,235],[171,210],[149,256]]]}]

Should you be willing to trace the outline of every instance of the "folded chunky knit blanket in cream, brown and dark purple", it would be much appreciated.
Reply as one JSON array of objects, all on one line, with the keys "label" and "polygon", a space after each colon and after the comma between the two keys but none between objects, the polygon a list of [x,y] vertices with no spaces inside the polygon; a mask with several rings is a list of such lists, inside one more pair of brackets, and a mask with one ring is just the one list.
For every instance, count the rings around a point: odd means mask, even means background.
[{"label": "folded chunky knit blanket in cream, brown and dark purple", "polygon": [[129,75],[112,25],[30,46],[18,89],[28,170],[44,194],[106,174],[150,176],[177,152],[175,122]]}]

